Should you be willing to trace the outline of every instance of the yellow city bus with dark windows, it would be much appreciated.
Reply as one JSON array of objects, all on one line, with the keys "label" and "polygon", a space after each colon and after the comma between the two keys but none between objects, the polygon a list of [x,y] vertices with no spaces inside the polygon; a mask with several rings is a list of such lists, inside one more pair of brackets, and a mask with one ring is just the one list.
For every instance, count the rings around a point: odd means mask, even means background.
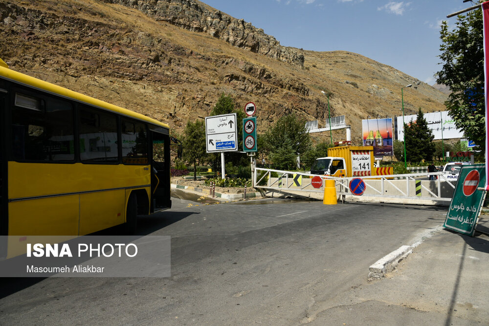
[{"label": "yellow city bus with dark windows", "polygon": [[171,207],[167,124],[0,60],[0,125],[1,236],[132,232],[137,215]]}]

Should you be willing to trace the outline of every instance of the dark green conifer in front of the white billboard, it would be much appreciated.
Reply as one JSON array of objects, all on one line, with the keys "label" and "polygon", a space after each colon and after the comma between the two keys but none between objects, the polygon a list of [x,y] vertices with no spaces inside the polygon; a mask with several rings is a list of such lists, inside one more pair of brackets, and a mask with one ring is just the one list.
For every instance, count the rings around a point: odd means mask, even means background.
[{"label": "dark green conifer in front of the white billboard", "polygon": [[421,108],[418,110],[416,121],[411,121],[408,126],[404,124],[406,137],[406,157],[409,162],[431,161],[435,153],[433,144],[433,132],[428,128],[428,123],[423,116]]}]

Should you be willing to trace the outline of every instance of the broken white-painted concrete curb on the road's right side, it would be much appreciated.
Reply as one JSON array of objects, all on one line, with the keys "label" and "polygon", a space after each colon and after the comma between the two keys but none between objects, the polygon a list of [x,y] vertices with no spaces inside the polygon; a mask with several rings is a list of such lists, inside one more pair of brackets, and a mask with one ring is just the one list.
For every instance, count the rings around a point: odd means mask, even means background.
[{"label": "broken white-painted concrete curb on the road's right side", "polygon": [[376,261],[373,265],[369,267],[368,281],[378,280],[385,277],[385,274],[392,272],[396,269],[396,266],[406,258],[408,255],[413,253],[413,249],[419,246],[423,240],[431,238],[433,234],[440,231],[443,228],[443,224],[438,225],[434,229],[425,231],[418,235],[414,239],[413,244],[407,246],[401,246],[399,249],[394,250],[390,254],[382,257]]}]

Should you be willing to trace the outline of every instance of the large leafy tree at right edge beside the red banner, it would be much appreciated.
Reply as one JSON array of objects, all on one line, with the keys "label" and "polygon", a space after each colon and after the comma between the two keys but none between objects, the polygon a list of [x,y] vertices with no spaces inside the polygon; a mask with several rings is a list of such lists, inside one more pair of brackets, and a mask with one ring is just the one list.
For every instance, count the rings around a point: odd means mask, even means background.
[{"label": "large leafy tree at right edge beside the red banner", "polygon": [[[482,2],[482,1],[480,1]],[[484,109],[484,43],[482,10],[457,16],[455,29],[442,22],[440,59],[443,69],[437,83],[452,90],[445,103],[455,125],[480,148],[486,142]]]}]

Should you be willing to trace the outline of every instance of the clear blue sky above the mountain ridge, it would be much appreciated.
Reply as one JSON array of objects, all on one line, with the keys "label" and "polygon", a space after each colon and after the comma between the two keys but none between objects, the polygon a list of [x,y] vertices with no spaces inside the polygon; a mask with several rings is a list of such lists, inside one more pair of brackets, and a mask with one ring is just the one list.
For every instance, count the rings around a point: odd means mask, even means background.
[{"label": "clear blue sky above the mountain ridge", "polygon": [[441,69],[440,23],[473,5],[463,0],[204,0],[263,28],[282,45],[345,50],[393,66],[433,85]]}]

